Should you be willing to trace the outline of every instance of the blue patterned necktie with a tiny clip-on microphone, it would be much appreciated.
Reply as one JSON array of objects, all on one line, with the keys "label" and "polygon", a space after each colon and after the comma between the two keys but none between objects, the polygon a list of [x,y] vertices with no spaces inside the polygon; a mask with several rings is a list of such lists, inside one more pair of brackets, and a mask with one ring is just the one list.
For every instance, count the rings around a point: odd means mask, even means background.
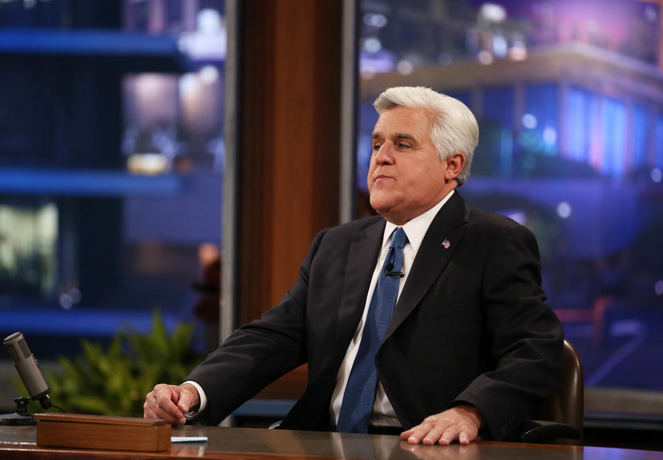
[{"label": "blue patterned necktie with a tiny clip-on microphone", "polygon": [[336,431],[365,433],[371,419],[378,372],[375,368],[375,355],[382,345],[385,333],[392,320],[392,313],[398,297],[398,283],[401,281],[403,266],[403,246],[407,235],[398,227],[392,233],[385,265],[378,277],[371,304],[368,308],[364,331],[359,350],[354,359],[350,377],[347,379],[343,404],[340,406]]}]

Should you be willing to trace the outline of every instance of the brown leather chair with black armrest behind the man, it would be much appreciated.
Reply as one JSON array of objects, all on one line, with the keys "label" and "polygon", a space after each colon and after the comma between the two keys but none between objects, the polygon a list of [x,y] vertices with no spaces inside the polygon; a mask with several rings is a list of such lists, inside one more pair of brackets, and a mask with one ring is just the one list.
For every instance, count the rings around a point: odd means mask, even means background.
[{"label": "brown leather chair with black armrest behind the man", "polygon": [[584,379],[582,361],[570,342],[564,341],[564,365],[557,390],[532,411],[519,441],[582,446]]}]

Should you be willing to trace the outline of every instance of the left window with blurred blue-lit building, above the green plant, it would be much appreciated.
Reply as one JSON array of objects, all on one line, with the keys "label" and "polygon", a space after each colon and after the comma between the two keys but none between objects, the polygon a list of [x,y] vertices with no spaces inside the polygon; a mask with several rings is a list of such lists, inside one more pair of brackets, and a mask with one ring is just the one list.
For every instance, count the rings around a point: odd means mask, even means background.
[{"label": "left window with blurred blue-lit building, above the green plant", "polygon": [[198,324],[203,351],[218,322],[201,296],[218,299],[220,277],[224,1],[5,0],[0,38],[2,337],[20,330],[49,359],[122,325],[146,332],[158,309]]}]

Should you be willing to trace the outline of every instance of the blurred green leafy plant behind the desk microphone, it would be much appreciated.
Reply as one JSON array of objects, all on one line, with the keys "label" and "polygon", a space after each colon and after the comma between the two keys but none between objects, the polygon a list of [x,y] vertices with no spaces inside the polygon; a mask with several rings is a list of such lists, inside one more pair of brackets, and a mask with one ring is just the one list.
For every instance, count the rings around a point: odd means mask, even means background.
[{"label": "blurred green leafy plant behind the desk microphone", "polygon": [[166,331],[158,310],[150,334],[119,330],[107,350],[81,340],[81,354],[60,357],[47,375],[52,398],[68,412],[142,417],[145,394],[156,383],[181,383],[200,361],[191,348],[194,326]]}]

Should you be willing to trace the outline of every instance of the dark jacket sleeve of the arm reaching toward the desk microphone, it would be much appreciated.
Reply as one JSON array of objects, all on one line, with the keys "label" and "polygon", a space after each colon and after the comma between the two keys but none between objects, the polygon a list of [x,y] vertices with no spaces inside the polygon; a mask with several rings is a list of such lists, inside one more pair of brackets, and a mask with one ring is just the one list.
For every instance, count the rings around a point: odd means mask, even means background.
[{"label": "dark jacket sleeve of the arm reaching toward the desk microphone", "polygon": [[218,424],[271,381],[305,362],[309,269],[325,232],[314,239],[296,283],[281,301],[233,332],[186,377],[206,394],[209,425]]}]

